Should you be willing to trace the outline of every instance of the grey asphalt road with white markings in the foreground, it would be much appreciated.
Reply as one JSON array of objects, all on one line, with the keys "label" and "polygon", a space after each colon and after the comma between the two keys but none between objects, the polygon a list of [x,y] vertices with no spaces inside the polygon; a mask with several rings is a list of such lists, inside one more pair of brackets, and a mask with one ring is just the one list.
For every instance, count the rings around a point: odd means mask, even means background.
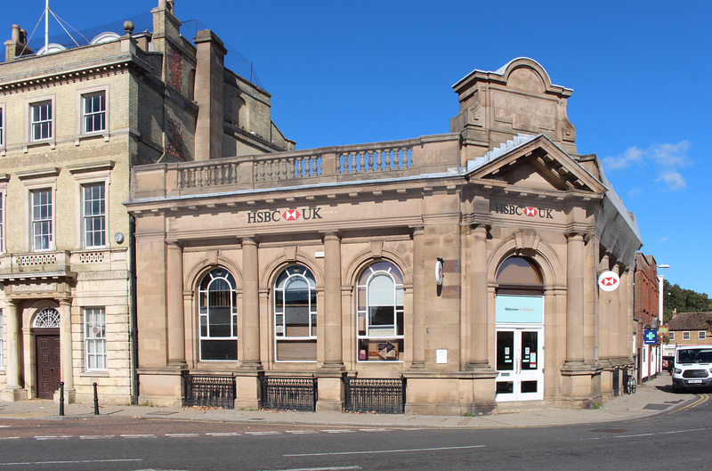
[{"label": "grey asphalt road with white markings in the foreground", "polygon": [[277,426],[165,419],[0,420],[3,470],[708,468],[708,394],[649,418],[528,428]]}]

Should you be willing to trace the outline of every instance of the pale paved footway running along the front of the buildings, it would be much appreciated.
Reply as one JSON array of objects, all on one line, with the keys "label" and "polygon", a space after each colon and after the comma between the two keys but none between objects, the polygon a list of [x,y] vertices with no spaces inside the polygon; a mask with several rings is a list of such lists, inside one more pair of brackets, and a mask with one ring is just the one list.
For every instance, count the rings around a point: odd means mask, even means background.
[{"label": "pale paved footway running along the front of the buildings", "polygon": [[0,402],[0,418],[42,420],[153,418],[235,423],[263,423],[314,426],[364,426],[398,428],[499,428],[557,426],[645,418],[692,402],[695,394],[675,394],[671,378],[663,373],[638,385],[635,394],[621,394],[594,409],[570,409],[537,403],[527,409],[498,410],[477,416],[431,416],[341,412],[294,412],[275,410],[225,410],[206,407],[170,408],[139,405],[101,405],[99,415],[91,404],[65,404],[60,416],[58,403],[49,400]]}]

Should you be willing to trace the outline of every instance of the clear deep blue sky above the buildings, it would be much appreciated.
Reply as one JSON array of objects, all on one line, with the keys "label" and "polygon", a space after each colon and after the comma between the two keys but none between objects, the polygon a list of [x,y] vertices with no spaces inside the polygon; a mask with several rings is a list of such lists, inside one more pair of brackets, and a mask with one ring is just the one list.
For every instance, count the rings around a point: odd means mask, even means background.
[{"label": "clear deep blue sky above the buildings", "polygon": [[[157,4],[51,0],[50,8],[79,30],[120,30]],[[5,2],[0,38],[13,23],[31,32],[43,9],[44,0]],[[272,94],[273,120],[298,149],[447,133],[457,80],[519,56],[538,61],[554,84],[574,90],[578,152],[603,159],[638,219],[643,253],[671,265],[667,280],[712,296],[709,0],[176,0],[175,13],[186,36],[210,28],[221,37],[232,69],[248,75],[253,65]],[[54,20],[50,28],[61,32]]]}]

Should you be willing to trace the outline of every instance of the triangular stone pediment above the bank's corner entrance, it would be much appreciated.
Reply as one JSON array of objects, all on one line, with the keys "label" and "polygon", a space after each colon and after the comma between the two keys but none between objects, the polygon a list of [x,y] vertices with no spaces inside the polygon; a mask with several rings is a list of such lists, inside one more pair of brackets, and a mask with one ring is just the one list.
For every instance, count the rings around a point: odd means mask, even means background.
[{"label": "triangular stone pediment above the bank's corner entrance", "polygon": [[[472,182],[532,191],[567,191],[602,196],[607,188],[544,134],[513,141],[468,162]],[[593,196],[593,195],[592,195]]]}]

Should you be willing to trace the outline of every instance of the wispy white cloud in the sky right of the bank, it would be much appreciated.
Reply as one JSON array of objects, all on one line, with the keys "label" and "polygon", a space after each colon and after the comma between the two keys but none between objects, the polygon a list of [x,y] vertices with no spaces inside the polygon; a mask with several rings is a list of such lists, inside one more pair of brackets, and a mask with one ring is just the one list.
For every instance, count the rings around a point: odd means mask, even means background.
[{"label": "wispy white cloud in the sky right of the bank", "polygon": [[[658,174],[656,182],[665,183],[671,191],[681,191],[687,187],[687,182],[680,170],[692,165],[692,160],[687,155],[690,150],[689,141],[677,143],[655,143],[647,149],[629,147],[617,157],[603,158],[606,170],[625,170],[631,166],[638,168],[653,167]],[[631,197],[641,194],[641,191],[632,190]]]}]

